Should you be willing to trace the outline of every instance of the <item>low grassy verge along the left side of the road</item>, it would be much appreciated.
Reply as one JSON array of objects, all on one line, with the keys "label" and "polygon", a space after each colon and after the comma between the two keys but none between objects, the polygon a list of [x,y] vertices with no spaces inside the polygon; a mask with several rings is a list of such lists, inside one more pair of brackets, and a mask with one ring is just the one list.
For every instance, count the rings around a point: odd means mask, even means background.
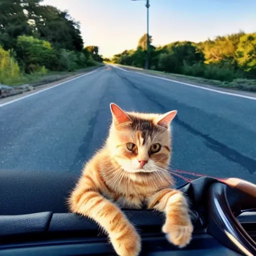
[{"label": "low grassy verge along the left side of the road", "polygon": [[17,78],[6,78],[4,79],[4,84],[5,85],[10,85],[10,86],[18,86],[18,85],[23,85],[23,84],[29,84],[32,86],[40,85],[43,83],[50,83],[56,80],[64,79],[68,76],[75,75],[78,73],[82,72],[87,72],[90,71],[96,67],[103,66],[104,64],[101,62],[95,62],[95,65],[77,69],[74,71],[62,71],[62,72],[57,72],[57,71],[49,71],[47,73],[31,73],[31,74],[22,74]]}]

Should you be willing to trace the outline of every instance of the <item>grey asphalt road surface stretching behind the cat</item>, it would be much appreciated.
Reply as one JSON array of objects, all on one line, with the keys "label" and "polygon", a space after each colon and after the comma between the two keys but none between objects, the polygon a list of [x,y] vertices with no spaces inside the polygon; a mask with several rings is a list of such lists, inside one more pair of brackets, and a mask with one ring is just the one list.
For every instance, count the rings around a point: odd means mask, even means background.
[{"label": "grey asphalt road surface stretching behind the cat", "polygon": [[256,183],[256,100],[103,67],[0,106],[0,169],[75,172],[103,143],[109,103],[166,112],[173,169]]}]

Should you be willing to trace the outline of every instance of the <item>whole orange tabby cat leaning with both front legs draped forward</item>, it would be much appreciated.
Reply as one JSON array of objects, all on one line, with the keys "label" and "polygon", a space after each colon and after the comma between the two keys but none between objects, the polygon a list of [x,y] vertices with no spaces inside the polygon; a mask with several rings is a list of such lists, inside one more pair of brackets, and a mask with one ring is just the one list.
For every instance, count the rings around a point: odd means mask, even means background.
[{"label": "whole orange tabby cat leaning with both front legs draped forward", "polygon": [[105,145],[84,166],[68,203],[72,212],[95,220],[118,255],[138,255],[140,237],[119,207],[157,209],[166,215],[162,231],[170,242],[187,245],[193,230],[188,204],[170,188],[170,122],[165,114],[124,112],[110,104],[112,124]]}]

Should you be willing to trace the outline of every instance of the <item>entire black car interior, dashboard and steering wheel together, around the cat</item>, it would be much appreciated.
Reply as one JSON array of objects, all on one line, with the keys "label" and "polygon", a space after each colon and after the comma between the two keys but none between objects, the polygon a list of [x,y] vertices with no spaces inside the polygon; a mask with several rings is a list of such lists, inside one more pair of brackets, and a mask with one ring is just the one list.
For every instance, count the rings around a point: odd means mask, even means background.
[{"label": "entire black car interior, dashboard and steering wheel together, around the cat", "polygon": [[[0,171],[0,255],[115,255],[89,219],[67,211],[72,173]],[[142,237],[141,255],[256,255],[256,186],[200,177],[179,187],[190,200],[193,237],[179,249],[151,210],[123,209]]]}]

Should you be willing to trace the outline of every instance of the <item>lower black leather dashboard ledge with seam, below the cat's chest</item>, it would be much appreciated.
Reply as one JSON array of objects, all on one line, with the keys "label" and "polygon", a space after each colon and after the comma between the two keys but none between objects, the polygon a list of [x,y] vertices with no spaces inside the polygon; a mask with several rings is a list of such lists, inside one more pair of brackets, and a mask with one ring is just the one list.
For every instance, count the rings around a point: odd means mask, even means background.
[{"label": "lower black leather dashboard ledge with seam, below the cat's chest", "polygon": [[[161,233],[163,216],[148,210],[124,210],[142,237],[141,255],[240,255],[199,226],[188,246],[179,249]],[[114,255],[97,225],[74,213],[38,212],[0,216],[0,255]]]}]

